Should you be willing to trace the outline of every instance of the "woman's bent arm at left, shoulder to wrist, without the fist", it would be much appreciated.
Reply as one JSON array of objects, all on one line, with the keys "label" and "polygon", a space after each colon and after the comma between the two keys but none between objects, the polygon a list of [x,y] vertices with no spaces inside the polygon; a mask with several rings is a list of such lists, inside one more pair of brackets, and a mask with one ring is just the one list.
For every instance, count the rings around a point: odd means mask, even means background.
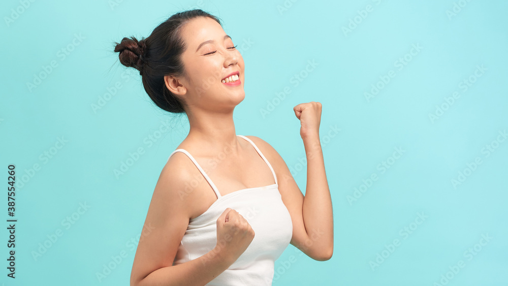
[{"label": "woman's bent arm at left, shoulder to wrist, without the fist", "polygon": [[[174,154],[161,172],[136,249],[131,286],[205,285],[234,263],[226,249],[215,247],[206,255],[173,266],[188,226],[191,197],[185,187],[192,180],[185,154]],[[192,164],[192,162],[190,162]],[[192,166],[190,167],[192,168]],[[183,194],[184,196],[181,196]]]}]

